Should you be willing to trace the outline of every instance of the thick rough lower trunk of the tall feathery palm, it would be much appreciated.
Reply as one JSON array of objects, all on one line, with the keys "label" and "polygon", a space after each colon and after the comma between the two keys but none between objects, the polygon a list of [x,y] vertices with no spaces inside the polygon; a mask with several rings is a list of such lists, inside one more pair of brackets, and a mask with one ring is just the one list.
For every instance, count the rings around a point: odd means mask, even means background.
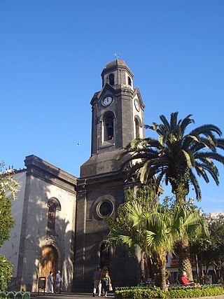
[{"label": "thick rough lower trunk of the tall feathery palm", "polygon": [[192,265],[190,263],[190,247],[188,239],[183,239],[179,244],[180,272],[187,272],[187,277],[193,281]]}]

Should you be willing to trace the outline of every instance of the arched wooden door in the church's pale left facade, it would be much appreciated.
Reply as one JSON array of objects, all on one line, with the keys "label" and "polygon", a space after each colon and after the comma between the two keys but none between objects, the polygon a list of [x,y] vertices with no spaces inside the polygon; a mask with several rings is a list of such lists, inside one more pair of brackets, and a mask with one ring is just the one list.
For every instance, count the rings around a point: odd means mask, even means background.
[{"label": "arched wooden door in the church's pale left facade", "polygon": [[53,246],[45,246],[42,250],[41,276],[46,277],[46,281],[50,271],[53,272],[53,279],[57,270],[57,251]]}]

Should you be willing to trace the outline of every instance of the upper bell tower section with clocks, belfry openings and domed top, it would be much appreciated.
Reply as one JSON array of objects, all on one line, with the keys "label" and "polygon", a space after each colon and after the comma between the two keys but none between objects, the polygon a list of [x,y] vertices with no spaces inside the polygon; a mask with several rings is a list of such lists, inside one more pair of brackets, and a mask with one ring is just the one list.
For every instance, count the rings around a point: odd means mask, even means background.
[{"label": "upper bell tower section with clocks, belfry openings and domed top", "polygon": [[123,60],[106,64],[102,90],[94,93],[90,104],[91,158],[81,166],[81,177],[118,170],[117,157],[123,148],[132,139],[144,137],[144,103]]}]

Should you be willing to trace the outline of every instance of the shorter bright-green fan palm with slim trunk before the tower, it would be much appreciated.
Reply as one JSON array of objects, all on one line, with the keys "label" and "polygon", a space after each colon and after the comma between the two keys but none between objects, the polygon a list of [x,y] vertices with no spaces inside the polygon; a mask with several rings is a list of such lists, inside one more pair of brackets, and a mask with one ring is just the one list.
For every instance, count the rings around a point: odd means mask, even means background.
[{"label": "shorter bright-green fan palm with slim trunk before the tower", "polygon": [[[166,256],[174,253],[174,246],[180,239],[186,238],[189,230],[197,226],[202,228],[198,211],[190,211],[179,206],[174,211],[162,204],[155,204],[153,209],[144,210],[141,202],[125,203],[126,225],[119,225],[119,220],[109,221],[110,232],[107,236],[109,244],[126,244],[139,246],[147,254],[153,254],[158,260],[162,288],[166,284]],[[129,223],[129,225],[127,225]]]}]

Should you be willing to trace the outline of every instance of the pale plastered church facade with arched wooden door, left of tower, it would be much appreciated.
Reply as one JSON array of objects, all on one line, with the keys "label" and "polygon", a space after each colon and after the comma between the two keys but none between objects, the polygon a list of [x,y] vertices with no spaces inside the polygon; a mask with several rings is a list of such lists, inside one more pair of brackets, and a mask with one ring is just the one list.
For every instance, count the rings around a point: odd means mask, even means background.
[{"label": "pale plastered church facade with arched wooden door, left of tower", "polygon": [[[36,167],[32,162],[26,165],[18,274],[8,284],[8,290],[38,291],[39,277],[48,277],[51,270],[55,279],[57,270],[60,270],[62,290],[70,291],[73,281],[76,177],[36,156],[31,158],[42,165]],[[62,181],[62,175],[66,174],[68,180]],[[59,203],[59,209],[55,200]]]}]

